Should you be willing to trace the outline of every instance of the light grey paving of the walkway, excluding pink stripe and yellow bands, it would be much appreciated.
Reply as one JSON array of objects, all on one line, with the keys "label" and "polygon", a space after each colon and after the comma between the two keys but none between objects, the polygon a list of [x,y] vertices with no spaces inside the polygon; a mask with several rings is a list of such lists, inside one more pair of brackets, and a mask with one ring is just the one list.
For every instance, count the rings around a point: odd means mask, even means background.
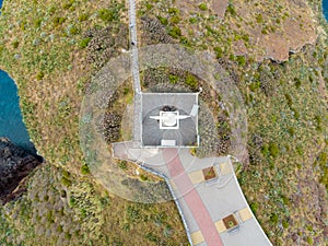
[{"label": "light grey paving of the walkway, excluding pink stripe and yellow bands", "polygon": [[[162,155],[162,149],[129,149],[131,147],[132,144],[129,142],[116,143],[114,147],[114,150],[116,150],[114,154],[120,154],[120,156],[116,157],[124,159],[128,156],[130,160],[142,163],[143,166],[165,175],[167,177],[167,181],[174,183],[174,178],[169,176],[169,173],[166,168],[165,161]],[[125,148],[127,150],[120,150]],[[230,162],[227,156],[198,159],[192,156],[188,149],[179,149],[178,155],[187,173],[201,171],[213,165],[216,168],[220,168],[220,164]],[[209,211],[213,223],[230,214],[236,214],[237,211],[241,211],[244,208],[249,209],[235,177],[233,166],[231,165],[230,168],[231,173],[219,175],[219,178],[214,181],[195,184],[194,187]],[[174,189],[173,195],[181,209],[188,232],[190,232],[190,234],[197,232],[199,230],[198,224],[195,221],[188,206],[184,201],[184,194],[179,194],[178,190]],[[262,232],[254,215],[251,219],[241,222],[237,230],[233,232],[223,232],[220,234],[220,236],[223,241],[223,244],[227,246],[271,246],[271,243]],[[198,244],[198,246],[204,245],[206,244],[203,242]]]}]

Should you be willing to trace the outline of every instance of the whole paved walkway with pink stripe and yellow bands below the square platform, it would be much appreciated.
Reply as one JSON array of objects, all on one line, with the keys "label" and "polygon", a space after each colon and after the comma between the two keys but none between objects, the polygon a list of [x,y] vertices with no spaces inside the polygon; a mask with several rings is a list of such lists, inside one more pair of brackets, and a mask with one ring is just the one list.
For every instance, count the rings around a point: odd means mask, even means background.
[{"label": "whole paved walkway with pink stripe and yellow bands below the square platform", "polygon": [[[272,246],[261,230],[238,185],[229,156],[198,159],[188,149],[133,148],[115,143],[114,156],[134,161],[164,176],[194,246]],[[203,169],[213,167],[218,178],[206,181]],[[224,220],[234,216],[231,230]]]}]

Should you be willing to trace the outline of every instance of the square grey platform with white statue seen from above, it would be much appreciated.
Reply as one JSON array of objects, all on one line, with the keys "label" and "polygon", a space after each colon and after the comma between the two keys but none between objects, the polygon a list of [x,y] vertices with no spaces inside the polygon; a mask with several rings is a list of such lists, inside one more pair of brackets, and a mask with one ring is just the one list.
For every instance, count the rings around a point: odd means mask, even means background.
[{"label": "square grey platform with white statue seen from above", "polygon": [[142,93],[141,102],[143,147],[198,147],[198,93]]}]

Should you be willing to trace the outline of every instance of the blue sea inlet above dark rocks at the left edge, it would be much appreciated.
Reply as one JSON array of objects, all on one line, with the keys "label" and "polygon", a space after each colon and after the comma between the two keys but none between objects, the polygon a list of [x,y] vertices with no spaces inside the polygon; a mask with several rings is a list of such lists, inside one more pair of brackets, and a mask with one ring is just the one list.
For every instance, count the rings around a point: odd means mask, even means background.
[{"label": "blue sea inlet above dark rocks at the left edge", "polygon": [[[0,0],[1,1],[1,0]],[[14,81],[0,70],[0,137],[9,138],[16,145],[35,153],[23,122],[20,97]]]}]

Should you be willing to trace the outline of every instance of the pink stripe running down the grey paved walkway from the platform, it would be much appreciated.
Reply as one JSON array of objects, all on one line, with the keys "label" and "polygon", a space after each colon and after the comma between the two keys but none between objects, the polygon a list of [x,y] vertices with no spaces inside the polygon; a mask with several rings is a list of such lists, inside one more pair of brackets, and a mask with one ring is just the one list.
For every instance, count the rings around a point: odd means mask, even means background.
[{"label": "pink stripe running down the grey paved walkway from the platform", "polygon": [[172,179],[189,207],[208,246],[223,246],[212,218],[178,157],[176,149],[164,149],[163,156]]}]

